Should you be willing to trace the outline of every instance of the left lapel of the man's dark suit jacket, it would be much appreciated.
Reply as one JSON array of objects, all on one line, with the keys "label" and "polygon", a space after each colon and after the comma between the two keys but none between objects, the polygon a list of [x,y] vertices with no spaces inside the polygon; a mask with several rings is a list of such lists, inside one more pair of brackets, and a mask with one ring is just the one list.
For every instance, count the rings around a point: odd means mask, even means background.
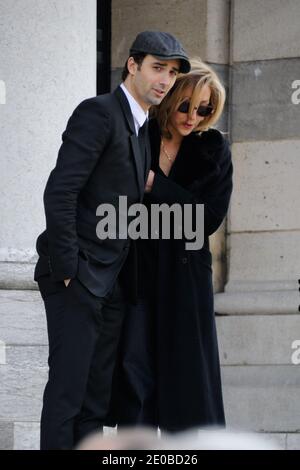
[{"label": "left lapel of the man's dark suit jacket", "polygon": [[138,187],[140,191],[140,200],[142,200],[144,196],[144,191],[145,191],[145,179],[144,179],[144,169],[143,169],[143,164],[142,164],[142,158],[141,158],[141,152],[140,152],[140,146],[139,146],[139,141],[135,132],[135,126],[134,126],[134,121],[133,121],[133,116],[131,113],[131,109],[129,106],[129,103],[127,101],[127,98],[122,91],[122,88],[118,87],[114,91],[115,96],[117,97],[122,111],[124,113],[126,122],[128,124],[128,127],[131,131],[131,136],[130,136],[130,142],[132,146],[132,153],[133,153],[133,159],[135,163],[135,168],[136,168],[136,173],[137,173],[137,181],[138,181]]}]

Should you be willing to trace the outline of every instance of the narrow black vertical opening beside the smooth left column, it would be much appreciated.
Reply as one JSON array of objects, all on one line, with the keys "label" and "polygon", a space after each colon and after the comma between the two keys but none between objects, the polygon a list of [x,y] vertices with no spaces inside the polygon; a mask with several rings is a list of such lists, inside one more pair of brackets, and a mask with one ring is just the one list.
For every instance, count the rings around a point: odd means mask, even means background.
[{"label": "narrow black vertical opening beside the smooth left column", "polygon": [[97,0],[97,95],[110,92],[111,0]]}]

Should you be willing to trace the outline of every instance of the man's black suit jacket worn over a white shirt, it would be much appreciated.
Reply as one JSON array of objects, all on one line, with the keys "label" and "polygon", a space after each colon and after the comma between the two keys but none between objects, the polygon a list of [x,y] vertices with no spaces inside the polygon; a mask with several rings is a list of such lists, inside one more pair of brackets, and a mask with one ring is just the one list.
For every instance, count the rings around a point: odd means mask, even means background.
[{"label": "man's black suit jacket worn over a white shirt", "polygon": [[[130,251],[123,280],[134,300],[137,273],[133,244],[130,247],[129,239],[100,240],[96,235],[99,204],[114,205],[118,218],[120,195],[127,196],[128,206],[141,202],[144,195],[144,156],[122,89],[80,103],[62,140],[44,192],[46,230],[36,243],[39,259],[34,279],[49,273],[53,281],[78,277],[87,289],[102,297],[112,288]],[[148,140],[146,154],[148,174]]]}]

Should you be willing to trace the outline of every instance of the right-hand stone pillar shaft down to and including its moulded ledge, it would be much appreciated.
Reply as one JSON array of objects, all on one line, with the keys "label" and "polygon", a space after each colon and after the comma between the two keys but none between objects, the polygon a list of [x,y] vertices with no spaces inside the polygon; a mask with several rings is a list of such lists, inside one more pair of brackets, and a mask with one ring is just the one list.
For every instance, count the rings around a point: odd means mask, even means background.
[{"label": "right-hand stone pillar shaft down to and including its moulded ledge", "polygon": [[233,2],[234,192],[220,313],[298,311],[300,104],[293,95],[300,79],[299,15],[297,0]]}]

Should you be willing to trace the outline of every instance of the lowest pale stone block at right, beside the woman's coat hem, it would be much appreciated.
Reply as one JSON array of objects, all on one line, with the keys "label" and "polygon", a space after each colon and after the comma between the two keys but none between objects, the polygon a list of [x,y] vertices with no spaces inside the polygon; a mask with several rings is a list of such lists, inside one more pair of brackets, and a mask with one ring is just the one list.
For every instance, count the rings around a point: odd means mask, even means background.
[{"label": "lowest pale stone block at right, beside the woman's coat hem", "polygon": [[223,366],[227,425],[300,432],[300,366]]}]

